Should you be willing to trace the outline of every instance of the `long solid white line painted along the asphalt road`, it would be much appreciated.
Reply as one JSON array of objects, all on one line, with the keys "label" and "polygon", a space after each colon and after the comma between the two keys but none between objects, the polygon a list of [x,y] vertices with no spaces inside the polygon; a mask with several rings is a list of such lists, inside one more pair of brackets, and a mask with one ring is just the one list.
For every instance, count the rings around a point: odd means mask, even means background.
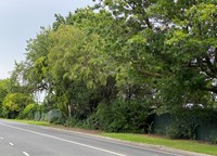
[{"label": "long solid white line painted along the asphalt road", "polygon": [[42,135],[42,136],[47,136],[47,138],[51,138],[51,139],[55,139],[55,140],[59,140],[59,141],[63,141],[63,142],[67,142],[67,143],[72,143],[72,144],[76,144],[76,145],[80,145],[80,146],[85,146],[85,147],[88,147],[88,148],[101,151],[101,152],[113,154],[113,155],[116,155],[116,156],[127,156],[127,155],[115,153],[115,152],[107,151],[107,150],[104,150],[104,148],[100,148],[100,147],[95,147],[95,146],[91,146],[91,145],[87,145],[87,144],[82,144],[82,143],[78,143],[78,142],[74,142],[74,141],[69,141],[69,140],[65,140],[65,139],[61,139],[61,138],[58,138],[58,136],[54,136],[54,135],[49,135],[49,134],[44,134],[44,133],[31,131],[31,130],[22,129],[22,128],[10,126],[10,125],[5,125],[5,123],[2,123],[2,122],[0,122],[0,125],[5,126],[5,127],[10,127],[10,128],[13,128],[13,129],[17,129],[17,130],[21,130],[21,131],[25,131],[25,132],[29,132],[29,133],[34,133],[34,134],[38,134],[38,135]]}]

